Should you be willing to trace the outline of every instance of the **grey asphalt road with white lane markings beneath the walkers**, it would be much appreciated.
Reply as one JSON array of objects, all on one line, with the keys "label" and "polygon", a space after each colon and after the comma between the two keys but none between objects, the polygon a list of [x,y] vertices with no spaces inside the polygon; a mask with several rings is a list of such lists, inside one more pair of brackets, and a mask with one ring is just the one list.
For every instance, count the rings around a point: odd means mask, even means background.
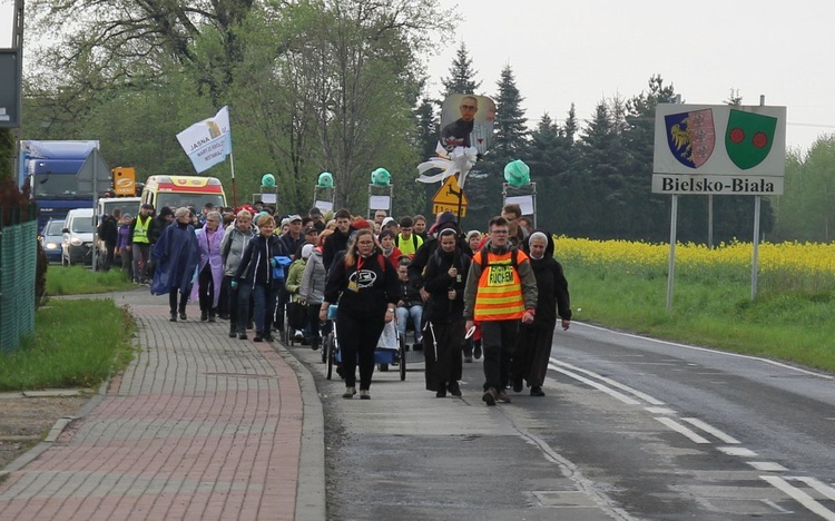
[{"label": "grey asphalt road with white lane markings beneath the walkers", "polygon": [[424,390],[423,364],[343,400],[308,347],[325,412],[331,520],[835,520],[835,380],[762,358],[572,323],[547,396]]}]

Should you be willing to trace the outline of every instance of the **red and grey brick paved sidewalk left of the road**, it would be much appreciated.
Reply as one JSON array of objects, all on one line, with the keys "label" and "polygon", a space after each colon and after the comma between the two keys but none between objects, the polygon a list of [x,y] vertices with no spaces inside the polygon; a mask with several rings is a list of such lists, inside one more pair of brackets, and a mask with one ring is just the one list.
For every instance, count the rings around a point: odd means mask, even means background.
[{"label": "red and grey brick paved sidewalk left of the road", "polygon": [[138,321],[136,358],[57,442],[6,469],[0,519],[324,519],[310,373],[281,346],[229,338],[225,321],[168,322],[167,297],[146,292],[112,295]]}]

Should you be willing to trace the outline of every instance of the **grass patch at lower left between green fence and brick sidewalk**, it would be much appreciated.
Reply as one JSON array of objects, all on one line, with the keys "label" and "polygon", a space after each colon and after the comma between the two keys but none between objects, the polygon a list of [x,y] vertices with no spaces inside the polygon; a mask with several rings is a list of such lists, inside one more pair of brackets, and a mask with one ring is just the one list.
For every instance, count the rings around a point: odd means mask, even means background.
[{"label": "grass patch at lower left between green fence and brick sidewalk", "polygon": [[35,321],[35,334],[2,354],[0,391],[94,387],[132,358],[136,323],[110,299],[52,299]]}]

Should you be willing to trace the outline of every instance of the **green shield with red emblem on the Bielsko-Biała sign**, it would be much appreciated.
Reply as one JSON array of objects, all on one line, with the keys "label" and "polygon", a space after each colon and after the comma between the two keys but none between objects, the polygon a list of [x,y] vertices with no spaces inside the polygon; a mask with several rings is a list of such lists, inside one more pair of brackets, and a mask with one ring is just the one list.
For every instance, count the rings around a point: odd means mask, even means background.
[{"label": "green shield with red emblem on the Bielsko-Bia\u0142a sign", "polygon": [[747,170],[763,163],[772,151],[776,128],[777,118],[730,109],[725,148],[734,165]]}]

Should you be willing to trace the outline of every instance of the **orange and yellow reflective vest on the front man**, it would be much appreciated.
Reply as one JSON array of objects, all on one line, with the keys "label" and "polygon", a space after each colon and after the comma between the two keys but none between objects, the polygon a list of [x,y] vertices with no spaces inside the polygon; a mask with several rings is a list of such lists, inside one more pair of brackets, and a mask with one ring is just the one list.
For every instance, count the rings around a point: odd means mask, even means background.
[{"label": "orange and yellow reflective vest on the front man", "polygon": [[[473,262],[484,265],[484,252],[473,256]],[[473,318],[477,321],[511,321],[524,315],[522,281],[513,263],[512,252],[502,255],[488,253],[487,269],[481,272],[475,293]],[[517,252],[517,265],[528,258]]]}]

